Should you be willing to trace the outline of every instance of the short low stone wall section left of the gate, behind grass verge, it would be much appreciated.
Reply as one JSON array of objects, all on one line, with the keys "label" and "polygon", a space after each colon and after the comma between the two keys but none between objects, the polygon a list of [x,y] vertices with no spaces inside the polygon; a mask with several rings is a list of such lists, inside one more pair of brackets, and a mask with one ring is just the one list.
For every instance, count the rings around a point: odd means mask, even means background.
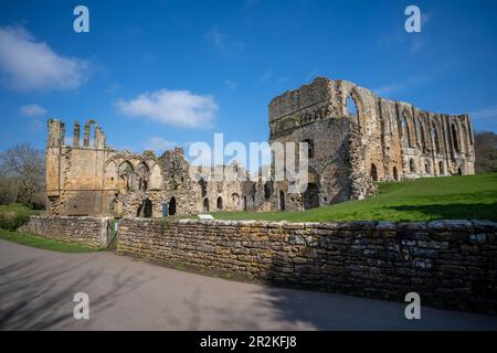
[{"label": "short low stone wall section left of the gate, behind grass verge", "polygon": [[31,216],[19,228],[34,235],[93,247],[106,247],[108,242],[106,217]]}]

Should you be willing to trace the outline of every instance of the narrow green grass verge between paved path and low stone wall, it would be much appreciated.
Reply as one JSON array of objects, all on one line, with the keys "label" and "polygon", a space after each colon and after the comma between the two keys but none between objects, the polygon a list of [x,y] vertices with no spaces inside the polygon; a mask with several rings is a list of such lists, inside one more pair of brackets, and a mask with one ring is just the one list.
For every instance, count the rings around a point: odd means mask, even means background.
[{"label": "narrow green grass verge between paved path and low stone wall", "polygon": [[105,248],[96,248],[77,244],[64,243],[38,237],[31,234],[10,232],[2,228],[0,228],[0,239],[57,253],[92,253],[106,250]]}]

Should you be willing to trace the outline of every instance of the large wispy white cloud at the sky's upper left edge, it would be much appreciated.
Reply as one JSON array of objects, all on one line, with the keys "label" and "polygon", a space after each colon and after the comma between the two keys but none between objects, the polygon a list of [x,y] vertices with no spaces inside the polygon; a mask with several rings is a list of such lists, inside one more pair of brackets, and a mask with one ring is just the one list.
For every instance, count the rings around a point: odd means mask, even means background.
[{"label": "large wispy white cloud at the sky's upper left edge", "polygon": [[74,89],[88,79],[86,61],[56,54],[22,28],[0,28],[0,71],[18,90]]}]

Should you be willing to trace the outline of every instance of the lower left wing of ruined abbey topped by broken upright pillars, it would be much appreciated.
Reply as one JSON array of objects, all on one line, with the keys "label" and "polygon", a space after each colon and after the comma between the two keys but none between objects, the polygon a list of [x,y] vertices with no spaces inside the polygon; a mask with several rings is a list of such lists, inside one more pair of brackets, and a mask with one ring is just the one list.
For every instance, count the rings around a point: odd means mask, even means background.
[{"label": "lower left wing of ruined abbey topped by broken upright pillars", "polygon": [[[93,140],[89,138],[92,125],[95,125]],[[231,182],[208,181],[202,188],[191,178],[191,165],[181,148],[159,158],[151,151],[142,154],[116,151],[105,145],[105,135],[93,120],[85,125],[83,145],[80,143],[77,121],[73,143],[66,142],[64,124],[49,120],[46,190],[50,215],[161,217],[163,202],[173,210],[170,214],[257,211],[264,206],[260,200],[260,183],[234,179]],[[269,210],[267,205],[265,210]]]}]

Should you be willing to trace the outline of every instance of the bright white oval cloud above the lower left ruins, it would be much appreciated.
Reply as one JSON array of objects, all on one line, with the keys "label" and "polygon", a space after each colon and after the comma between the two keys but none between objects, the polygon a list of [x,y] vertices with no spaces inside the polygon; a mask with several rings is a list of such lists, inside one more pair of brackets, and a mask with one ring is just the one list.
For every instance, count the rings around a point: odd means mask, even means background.
[{"label": "bright white oval cloud above the lower left ruins", "polygon": [[131,100],[119,99],[116,106],[130,117],[184,128],[211,127],[219,109],[212,96],[168,89],[144,93]]}]

